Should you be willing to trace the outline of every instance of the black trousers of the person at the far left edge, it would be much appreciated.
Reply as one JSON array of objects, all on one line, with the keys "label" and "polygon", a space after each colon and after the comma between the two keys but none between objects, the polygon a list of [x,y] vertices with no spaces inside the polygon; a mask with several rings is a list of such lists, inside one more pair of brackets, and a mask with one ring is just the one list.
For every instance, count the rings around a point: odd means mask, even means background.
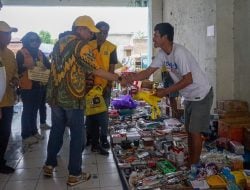
[{"label": "black trousers of the person at the far left edge", "polygon": [[2,118],[0,119],[0,165],[4,165],[6,162],[4,159],[4,154],[6,152],[11,133],[13,106],[2,107],[1,109]]}]

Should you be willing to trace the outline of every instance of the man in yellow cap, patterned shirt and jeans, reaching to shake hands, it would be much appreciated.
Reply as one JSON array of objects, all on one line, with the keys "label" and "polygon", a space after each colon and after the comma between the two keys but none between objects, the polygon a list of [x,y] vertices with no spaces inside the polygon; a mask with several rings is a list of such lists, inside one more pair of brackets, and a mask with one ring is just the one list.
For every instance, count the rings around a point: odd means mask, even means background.
[{"label": "man in yellow cap, patterned shirt and jeans, reaching to shake hands", "polygon": [[70,186],[90,179],[90,174],[81,170],[82,144],[85,141],[83,111],[86,75],[93,73],[110,81],[125,83],[118,75],[97,66],[95,52],[88,44],[95,32],[99,30],[95,27],[92,18],[86,15],[80,16],[74,21],[72,32],[60,38],[52,52],[51,74],[47,89],[47,101],[52,112],[52,128],[44,175],[53,175],[67,124],[71,136],[67,180]]}]

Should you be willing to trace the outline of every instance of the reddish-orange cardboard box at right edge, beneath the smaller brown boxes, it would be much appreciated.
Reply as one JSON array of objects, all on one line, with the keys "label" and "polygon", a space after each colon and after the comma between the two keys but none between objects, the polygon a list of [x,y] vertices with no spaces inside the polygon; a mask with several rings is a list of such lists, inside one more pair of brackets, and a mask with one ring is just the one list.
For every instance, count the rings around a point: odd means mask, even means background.
[{"label": "reddish-orange cardboard box at right edge, beneath the smaller brown boxes", "polygon": [[244,128],[250,128],[250,117],[219,119],[218,135],[243,143]]}]

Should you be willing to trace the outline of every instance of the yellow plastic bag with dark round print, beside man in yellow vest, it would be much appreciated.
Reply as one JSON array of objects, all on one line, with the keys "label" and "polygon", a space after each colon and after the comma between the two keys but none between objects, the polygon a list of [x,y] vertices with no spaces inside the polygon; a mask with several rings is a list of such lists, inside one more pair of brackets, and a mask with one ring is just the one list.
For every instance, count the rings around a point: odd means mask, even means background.
[{"label": "yellow plastic bag with dark round print, beside man in yellow vest", "polygon": [[85,115],[95,115],[107,111],[107,106],[102,96],[101,86],[94,86],[85,97],[86,110]]}]

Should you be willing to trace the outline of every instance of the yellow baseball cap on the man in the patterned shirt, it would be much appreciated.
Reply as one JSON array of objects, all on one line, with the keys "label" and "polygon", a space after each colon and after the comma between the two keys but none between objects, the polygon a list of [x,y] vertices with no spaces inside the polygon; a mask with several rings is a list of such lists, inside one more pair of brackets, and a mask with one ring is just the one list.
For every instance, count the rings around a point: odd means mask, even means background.
[{"label": "yellow baseball cap on the man in the patterned shirt", "polygon": [[86,26],[91,32],[100,32],[100,30],[96,28],[93,19],[87,15],[77,17],[73,26]]}]

